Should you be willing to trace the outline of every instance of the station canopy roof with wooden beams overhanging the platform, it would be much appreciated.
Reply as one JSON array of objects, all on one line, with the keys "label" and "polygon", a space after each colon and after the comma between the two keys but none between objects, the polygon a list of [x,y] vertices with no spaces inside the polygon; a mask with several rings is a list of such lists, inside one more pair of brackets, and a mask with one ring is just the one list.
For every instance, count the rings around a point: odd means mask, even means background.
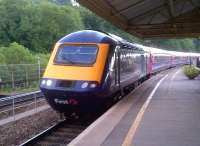
[{"label": "station canopy roof with wooden beams overhanging the platform", "polygon": [[78,0],[140,38],[200,36],[200,0]]}]

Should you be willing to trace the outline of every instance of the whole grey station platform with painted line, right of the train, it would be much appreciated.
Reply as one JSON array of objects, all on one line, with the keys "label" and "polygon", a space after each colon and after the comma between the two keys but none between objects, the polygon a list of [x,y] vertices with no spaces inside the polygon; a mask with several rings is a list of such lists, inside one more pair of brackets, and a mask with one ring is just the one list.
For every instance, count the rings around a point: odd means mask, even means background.
[{"label": "whole grey station platform with painted line, right of the train", "polygon": [[145,81],[69,146],[199,146],[200,78],[182,68]]}]

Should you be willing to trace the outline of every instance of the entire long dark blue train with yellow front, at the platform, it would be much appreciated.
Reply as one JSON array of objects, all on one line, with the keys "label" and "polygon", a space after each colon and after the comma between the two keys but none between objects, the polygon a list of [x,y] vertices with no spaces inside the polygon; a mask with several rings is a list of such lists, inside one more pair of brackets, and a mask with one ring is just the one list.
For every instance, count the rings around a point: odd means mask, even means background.
[{"label": "entire long dark blue train with yellow front, at the platform", "polygon": [[82,30],[55,44],[40,89],[54,110],[70,116],[124,95],[152,74],[199,62],[199,54],[166,51],[114,34]]}]

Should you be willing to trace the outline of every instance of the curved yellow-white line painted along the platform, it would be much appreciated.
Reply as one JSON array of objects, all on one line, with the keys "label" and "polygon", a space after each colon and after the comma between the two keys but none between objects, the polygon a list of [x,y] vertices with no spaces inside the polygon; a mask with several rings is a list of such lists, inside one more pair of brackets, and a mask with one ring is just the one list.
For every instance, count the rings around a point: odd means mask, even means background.
[{"label": "curved yellow-white line painted along the platform", "polygon": [[158,87],[160,86],[160,84],[163,82],[163,80],[168,76],[165,75],[162,79],[160,79],[160,81],[156,84],[156,86],[154,87],[154,89],[152,90],[151,94],[149,95],[149,97],[147,98],[147,100],[145,101],[145,103],[143,104],[142,108],[140,109],[139,113],[137,114],[137,117],[135,119],[135,121],[133,122],[133,124],[131,125],[123,143],[122,146],[130,146],[133,142],[133,138],[135,136],[136,130],[142,120],[142,117],[144,115],[145,110],[147,109],[153,95],[155,94],[156,90],[158,89]]}]

